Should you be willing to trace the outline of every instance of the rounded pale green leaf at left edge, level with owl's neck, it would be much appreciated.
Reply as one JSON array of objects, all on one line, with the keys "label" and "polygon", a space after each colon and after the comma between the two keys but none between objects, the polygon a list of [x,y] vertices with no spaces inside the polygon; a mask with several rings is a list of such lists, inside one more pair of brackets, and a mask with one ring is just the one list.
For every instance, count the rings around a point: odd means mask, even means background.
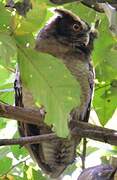
[{"label": "rounded pale green leaf at left edge, level with owl's neck", "polygon": [[0,32],[0,62],[4,61],[4,65],[9,64],[9,60],[17,53],[14,39],[8,34]]}]

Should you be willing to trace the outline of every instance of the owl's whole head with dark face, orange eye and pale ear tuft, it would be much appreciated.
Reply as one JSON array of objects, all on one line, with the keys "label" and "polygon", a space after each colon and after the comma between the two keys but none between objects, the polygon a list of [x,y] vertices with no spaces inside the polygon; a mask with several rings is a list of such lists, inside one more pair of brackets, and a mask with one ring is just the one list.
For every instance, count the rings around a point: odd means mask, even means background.
[{"label": "owl's whole head with dark face, orange eye and pale ear tuft", "polygon": [[[92,32],[87,22],[65,9],[55,9],[57,16],[39,32],[36,49],[42,40],[49,40],[49,46],[66,47],[75,52],[90,53],[96,34]],[[53,44],[52,44],[53,43]],[[41,43],[40,43],[41,44]],[[53,49],[53,48],[52,48]],[[54,51],[54,49],[53,49]]]}]

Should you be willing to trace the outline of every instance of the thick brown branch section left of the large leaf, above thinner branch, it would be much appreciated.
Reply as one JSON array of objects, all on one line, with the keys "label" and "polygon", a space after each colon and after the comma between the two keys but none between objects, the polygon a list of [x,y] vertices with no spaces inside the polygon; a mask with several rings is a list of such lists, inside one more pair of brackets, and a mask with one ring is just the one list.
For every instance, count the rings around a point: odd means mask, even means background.
[{"label": "thick brown branch section left of the large leaf, above thinner branch", "polygon": [[0,117],[15,119],[29,124],[43,125],[45,112],[42,108],[27,109],[0,103]]}]

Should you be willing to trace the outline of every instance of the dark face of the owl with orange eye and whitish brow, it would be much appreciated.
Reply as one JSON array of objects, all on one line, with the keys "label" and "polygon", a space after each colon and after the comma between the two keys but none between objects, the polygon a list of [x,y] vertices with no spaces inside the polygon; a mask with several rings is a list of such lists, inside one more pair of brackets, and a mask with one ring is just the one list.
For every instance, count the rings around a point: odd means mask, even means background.
[{"label": "dark face of the owl with orange eye and whitish brow", "polygon": [[87,45],[89,43],[90,27],[69,11],[56,9],[59,15],[54,21],[55,36],[58,40],[63,39],[64,43],[72,45]]}]

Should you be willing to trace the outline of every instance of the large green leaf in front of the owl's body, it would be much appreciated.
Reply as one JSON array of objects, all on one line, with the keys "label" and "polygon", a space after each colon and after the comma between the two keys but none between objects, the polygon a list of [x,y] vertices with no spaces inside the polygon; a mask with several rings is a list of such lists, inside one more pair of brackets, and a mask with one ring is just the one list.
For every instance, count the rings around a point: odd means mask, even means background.
[{"label": "large green leaf in front of the owl's body", "polygon": [[73,107],[80,103],[80,87],[62,61],[23,49],[18,53],[22,82],[36,101],[45,106],[46,123],[55,127],[58,136],[69,134],[67,120]]}]

